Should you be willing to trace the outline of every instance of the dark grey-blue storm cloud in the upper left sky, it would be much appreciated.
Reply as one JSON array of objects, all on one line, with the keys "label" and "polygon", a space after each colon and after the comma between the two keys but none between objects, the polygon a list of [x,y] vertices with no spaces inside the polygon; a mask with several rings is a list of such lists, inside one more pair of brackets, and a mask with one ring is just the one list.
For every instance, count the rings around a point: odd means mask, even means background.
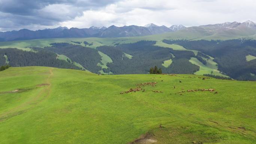
[{"label": "dark grey-blue storm cloud in the upper left sky", "polygon": [[0,0],[1,30],[49,26],[120,0]]}]

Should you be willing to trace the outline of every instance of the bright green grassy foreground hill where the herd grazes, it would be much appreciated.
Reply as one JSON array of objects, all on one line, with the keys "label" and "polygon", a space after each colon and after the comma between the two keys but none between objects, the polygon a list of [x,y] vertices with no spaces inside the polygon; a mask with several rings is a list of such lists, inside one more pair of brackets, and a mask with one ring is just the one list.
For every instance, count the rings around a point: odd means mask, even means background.
[{"label": "bright green grassy foreground hill where the herd grazes", "polygon": [[[144,82],[157,83],[120,94]],[[0,144],[255,144],[255,86],[186,74],[10,67],[0,72]]]}]

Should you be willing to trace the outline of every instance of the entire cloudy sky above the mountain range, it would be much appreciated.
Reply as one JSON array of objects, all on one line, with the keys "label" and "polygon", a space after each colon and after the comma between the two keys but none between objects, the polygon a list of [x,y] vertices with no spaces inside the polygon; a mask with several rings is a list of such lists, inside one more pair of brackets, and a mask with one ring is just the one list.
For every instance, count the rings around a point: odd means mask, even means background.
[{"label": "entire cloudy sky above the mountain range", "polygon": [[0,0],[0,31],[256,22],[255,0]]}]

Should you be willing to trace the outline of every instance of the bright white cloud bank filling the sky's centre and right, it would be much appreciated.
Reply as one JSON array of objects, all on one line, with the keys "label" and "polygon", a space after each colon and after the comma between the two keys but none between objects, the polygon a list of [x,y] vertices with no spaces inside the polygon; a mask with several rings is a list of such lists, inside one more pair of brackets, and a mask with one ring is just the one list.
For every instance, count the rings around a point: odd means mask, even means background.
[{"label": "bright white cloud bank filling the sky's centre and right", "polygon": [[256,21],[254,0],[125,0],[98,10],[87,10],[83,16],[62,22],[62,26],[85,28],[155,23],[171,26],[196,26],[226,21]]}]

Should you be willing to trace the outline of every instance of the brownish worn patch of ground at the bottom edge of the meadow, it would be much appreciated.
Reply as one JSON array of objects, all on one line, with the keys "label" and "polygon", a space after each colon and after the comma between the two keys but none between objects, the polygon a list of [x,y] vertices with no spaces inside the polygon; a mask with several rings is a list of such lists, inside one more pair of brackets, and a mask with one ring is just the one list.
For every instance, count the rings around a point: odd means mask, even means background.
[{"label": "brownish worn patch of ground at the bottom edge of the meadow", "polygon": [[194,127],[165,127],[161,124],[136,140],[128,144],[215,144],[219,141],[217,134],[204,134],[208,129],[201,129],[202,133],[194,131]]}]

